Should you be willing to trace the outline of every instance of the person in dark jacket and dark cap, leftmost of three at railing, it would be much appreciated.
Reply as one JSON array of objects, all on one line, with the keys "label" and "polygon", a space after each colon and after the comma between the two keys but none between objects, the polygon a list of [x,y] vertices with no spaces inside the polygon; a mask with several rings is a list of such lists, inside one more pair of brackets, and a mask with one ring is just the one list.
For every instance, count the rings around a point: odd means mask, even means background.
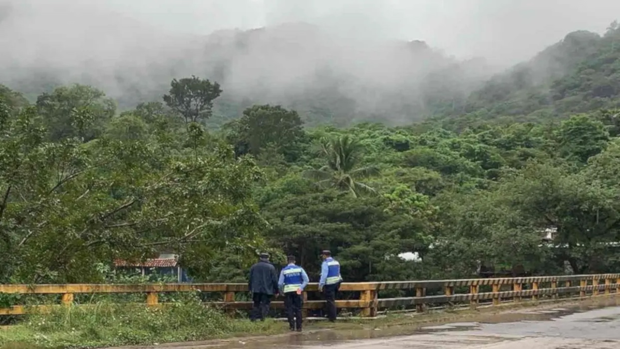
[{"label": "person in dark jacket and dark cap, leftmost of three at railing", "polygon": [[278,294],[278,274],[269,262],[268,254],[260,254],[258,263],[250,268],[248,288],[252,292],[250,320],[265,320],[274,294]]}]

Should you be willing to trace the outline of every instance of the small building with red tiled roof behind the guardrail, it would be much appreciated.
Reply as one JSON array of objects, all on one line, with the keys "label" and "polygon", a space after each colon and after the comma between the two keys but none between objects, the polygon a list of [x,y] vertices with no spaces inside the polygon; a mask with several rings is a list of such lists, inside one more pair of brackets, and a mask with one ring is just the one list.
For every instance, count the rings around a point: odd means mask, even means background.
[{"label": "small building with red tiled roof behind the guardrail", "polygon": [[117,270],[127,270],[146,275],[176,276],[177,282],[192,282],[187,272],[179,265],[179,256],[175,254],[159,254],[157,258],[148,258],[144,261],[129,262],[117,259],[114,261]]}]

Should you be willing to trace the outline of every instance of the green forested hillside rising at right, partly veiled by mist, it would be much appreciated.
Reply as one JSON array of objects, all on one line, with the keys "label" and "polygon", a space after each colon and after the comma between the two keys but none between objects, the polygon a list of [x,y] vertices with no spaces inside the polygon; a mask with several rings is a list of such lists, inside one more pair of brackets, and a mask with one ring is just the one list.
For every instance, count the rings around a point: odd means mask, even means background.
[{"label": "green forested hillside rising at right, partly veiled by mist", "polygon": [[456,125],[508,117],[541,121],[620,106],[620,26],[577,31],[498,74],[450,115]]}]

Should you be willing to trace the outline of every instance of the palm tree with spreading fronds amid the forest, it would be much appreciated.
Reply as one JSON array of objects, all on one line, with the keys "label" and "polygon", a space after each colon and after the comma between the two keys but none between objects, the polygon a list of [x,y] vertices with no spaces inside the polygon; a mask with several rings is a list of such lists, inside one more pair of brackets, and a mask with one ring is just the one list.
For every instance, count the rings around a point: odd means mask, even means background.
[{"label": "palm tree with spreading fronds amid the forest", "polygon": [[356,168],[360,161],[361,144],[348,135],[321,139],[320,151],[327,157],[327,165],[318,170],[304,171],[304,177],[317,181],[319,185],[327,185],[339,190],[350,192],[353,197],[362,193],[374,194],[374,188],[358,182],[379,174],[373,166]]}]

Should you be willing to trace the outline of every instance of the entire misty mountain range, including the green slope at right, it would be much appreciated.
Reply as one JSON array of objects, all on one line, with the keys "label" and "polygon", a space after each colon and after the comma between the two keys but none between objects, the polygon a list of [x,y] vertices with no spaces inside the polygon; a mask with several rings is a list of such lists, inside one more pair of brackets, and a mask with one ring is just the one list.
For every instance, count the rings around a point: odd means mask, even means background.
[{"label": "entire misty mountain range, including the green slope at right", "polygon": [[0,82],[30,100],[78,82],[104,90],[123,110],[161,100],[173,78],[197,75],[224,90],[210,126],[253,104],[294,108],[308,125],[340,126],[539,120],[620,105],[617,24],[603,36],[569,33],[493,76],[484,60],[459,61],[418,40],[344,38],[305,23],[179,36],[113,12],[9,3],[0,17],[0,46],[10,48],[0,56]]}]

